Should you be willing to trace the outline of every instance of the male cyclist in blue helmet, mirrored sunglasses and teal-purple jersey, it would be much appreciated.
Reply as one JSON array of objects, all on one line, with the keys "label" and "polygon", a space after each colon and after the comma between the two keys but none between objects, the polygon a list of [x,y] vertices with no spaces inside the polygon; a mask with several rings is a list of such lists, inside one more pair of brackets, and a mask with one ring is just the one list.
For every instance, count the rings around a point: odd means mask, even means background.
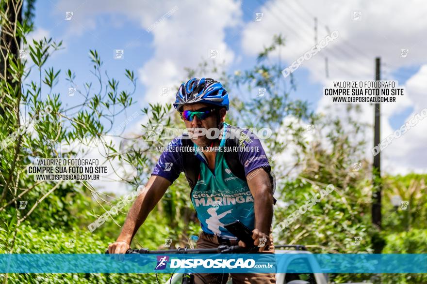
[{"label": "male cyclist in blue helmet, mirrored sunglasses and teal-purple jersey", "polygon": [[[252,230],[257,250],[274,253],[271,168],[255,135],[224,122],[229,110],[227,91],[213,79],[193,78],[181,84],[174,107],[189,133],[173,139],[162,153],[146,188],[132,205],[119,237],[109,245],[109,253],[126,253],[138,228],[181,172],[189,182],[191,200],[202,228],[197,248],[215,248],[220,244],[245,246],[224,228],[225,224],[239,220]],[[219,135],[201,132],[212,128],[218,129]],[[184,146],[194,147],[194,151],[181,150],[188,149]],[[245,148],[238,152],[215,151],[225,149],[217,147],[227,146]],[[265,245],[258,247],[265,239]],[[232,273],[231,277],[233,283],[276,283],[274,273]],[[227,279],[228,275],[218,273],[195,275],[195,283],[226,283]]]}]

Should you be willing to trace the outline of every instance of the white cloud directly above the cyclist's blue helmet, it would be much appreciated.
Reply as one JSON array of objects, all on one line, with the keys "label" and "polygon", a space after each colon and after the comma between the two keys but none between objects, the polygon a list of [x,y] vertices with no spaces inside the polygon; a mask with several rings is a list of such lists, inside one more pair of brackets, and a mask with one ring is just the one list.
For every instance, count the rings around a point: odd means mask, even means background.
[{"label": "white cloud directly above the cyclist's blue helmet", "polygon": [[[179,3],[179,10],[151,31],[154,56],[139,70],[139,77],[147,87],[145,98],[150,103],[174,101],[177,87],[186,75],[184,67],[195,67],[203,60],[227,65],[234,59],[225,42],[225,29],[239,23],[239,5],[230,0],[198,3]],[[209,58],[211,50],[218,51],[216,59]],[[172,90],[167,97],[161,97],[165,87]]]}]

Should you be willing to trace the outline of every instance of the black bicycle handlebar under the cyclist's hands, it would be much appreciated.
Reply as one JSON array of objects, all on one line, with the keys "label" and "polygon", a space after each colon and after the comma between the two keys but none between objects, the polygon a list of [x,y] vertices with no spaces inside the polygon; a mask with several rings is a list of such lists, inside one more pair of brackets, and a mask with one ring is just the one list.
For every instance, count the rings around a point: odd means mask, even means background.
[{"label": "black bicycle handlebar under the cyclist's hands", "polygon": [[[213,249],[189,249],[178,248],[176,250],[148,250],[148,249],[129,249],[126,251],[126,254],[232,254],[232,253],[244,253],[249,252],[250,248],[239,247],[238,245],[228,246],[220,245],[217,248]],[[108,253],[108,249],[105,251],[105,254]]]}]

